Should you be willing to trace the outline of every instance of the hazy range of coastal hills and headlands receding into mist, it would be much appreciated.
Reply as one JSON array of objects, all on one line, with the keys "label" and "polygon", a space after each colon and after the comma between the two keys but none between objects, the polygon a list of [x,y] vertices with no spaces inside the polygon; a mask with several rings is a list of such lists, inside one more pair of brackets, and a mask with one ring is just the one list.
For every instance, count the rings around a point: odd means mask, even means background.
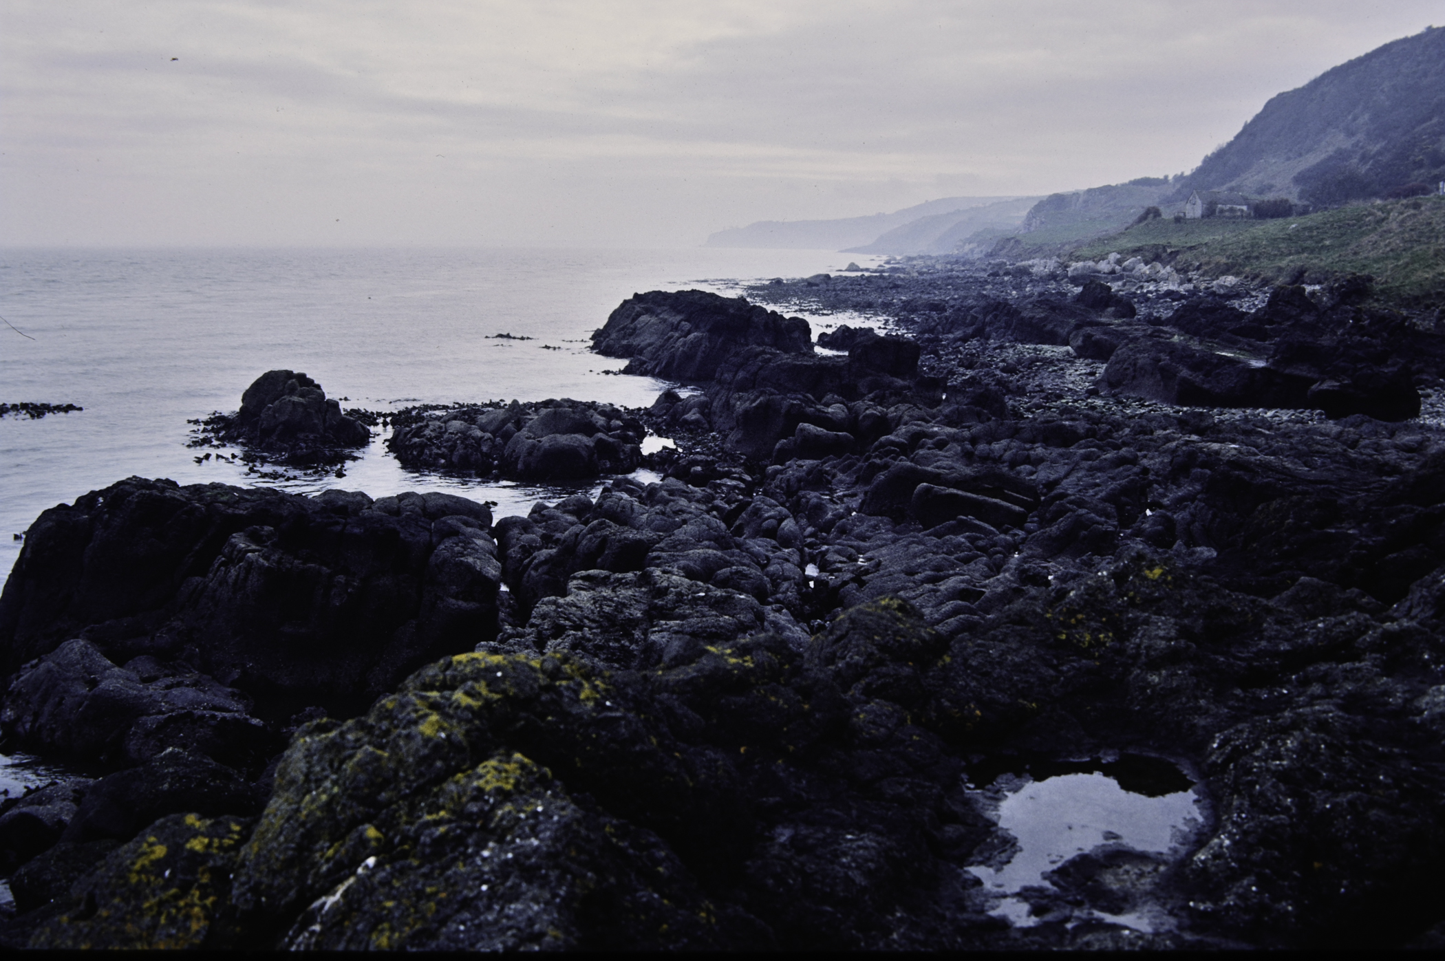
[{"label": "hazy range of coastal hills and headlands receding into mist", "polygon": [[[1196,189],[1256,199],[1286,197],[1321,208],[1422,194],[1442,181],[1445,27],[1429,27],[1270,98],[1233,140],[1183,178],[1146,176],[1042,199],[952,197],[845,220],[760,221],[718,231],[707,246],[1017,260],[1064,254],[1114,234],[1147,207],[1162,207],[1168,217]],[[1038,202],[1023,214],[1022,205],[1030,201]]]}]

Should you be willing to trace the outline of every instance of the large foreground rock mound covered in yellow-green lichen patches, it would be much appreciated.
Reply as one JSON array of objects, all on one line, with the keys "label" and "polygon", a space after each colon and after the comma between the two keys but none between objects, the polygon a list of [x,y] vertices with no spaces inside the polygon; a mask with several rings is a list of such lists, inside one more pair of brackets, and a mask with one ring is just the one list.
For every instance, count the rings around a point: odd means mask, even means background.
[{"label": "large foreground rock mound covered in yellow-green lichen patches", "polygon": [[361,718],[301,731],[237,903],[299,912],[283,939],[299,948],[741,947],[669,845],[614,816],[670,827],[685,847],[718,825],[727,767],[678,750],[627,701],[566,656],[474,653],[423,668]]}]

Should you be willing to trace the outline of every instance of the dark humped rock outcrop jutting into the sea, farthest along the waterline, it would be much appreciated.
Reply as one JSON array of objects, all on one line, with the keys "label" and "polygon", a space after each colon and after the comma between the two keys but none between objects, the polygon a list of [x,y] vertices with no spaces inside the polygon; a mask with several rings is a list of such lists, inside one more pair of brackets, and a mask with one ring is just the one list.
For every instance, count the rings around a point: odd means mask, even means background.
[{"label": "dark humped rock outcrop jutting into the sea, farthest along the waterline", "polygon": [[718,367],[744,347],[811,354],[808,321],[785,318],[743,298],[702,290],[637,293],[592,334],[592,350],[630,357],[627,373],[669,380],[717,377]]}]

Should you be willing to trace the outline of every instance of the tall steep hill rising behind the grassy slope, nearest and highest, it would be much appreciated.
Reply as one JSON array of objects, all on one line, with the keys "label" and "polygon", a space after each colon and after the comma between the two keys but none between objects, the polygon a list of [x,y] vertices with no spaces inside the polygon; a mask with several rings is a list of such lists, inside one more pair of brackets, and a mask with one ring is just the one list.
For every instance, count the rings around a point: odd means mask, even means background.
[{"label": "tall steep hill rising behind the grassy slope, nearest and highest", "polygon": [[1431,27],[1273,97],[1185,178],[1331,205],[1445,179],[1445,27]]}]

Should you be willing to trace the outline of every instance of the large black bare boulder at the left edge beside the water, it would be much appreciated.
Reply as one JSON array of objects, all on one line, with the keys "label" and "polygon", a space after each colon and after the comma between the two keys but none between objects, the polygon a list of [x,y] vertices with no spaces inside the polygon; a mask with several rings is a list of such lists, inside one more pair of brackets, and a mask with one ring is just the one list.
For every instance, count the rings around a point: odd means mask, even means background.
[{"label": "large black bare boulder at the left edge beside the water", "polygon": [[494,636],[490,519],[441,493],[120,481],[30,527],[0,595],[4,669],[81,636],[113,663],[184,659],[283,717],[351,711]]}]

